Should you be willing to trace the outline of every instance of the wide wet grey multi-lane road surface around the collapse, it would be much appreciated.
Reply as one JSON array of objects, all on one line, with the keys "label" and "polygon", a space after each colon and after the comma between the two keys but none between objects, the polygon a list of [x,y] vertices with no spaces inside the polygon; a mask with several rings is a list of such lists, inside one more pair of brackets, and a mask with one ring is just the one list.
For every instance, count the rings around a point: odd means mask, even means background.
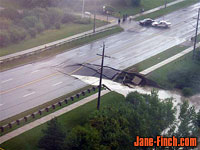
[{"label": "wide wet grey multi-lane road surface around the collapse", "polygon": [[[136,22],[122,25],[125,31],[91,44],[59,54],[48,60],[0,73],[0,120],[48,102],[86,86],[72,77],[79,74],[75,64],[100,64],[102,43],[106,44],[105,65],[125,69],[177,44],[195,33],[200,3],[164,16],[170,29],[141,27]],[[163,19],[160,18],[160,19]],[[82,74],[83,75],[83,74]]]}]

